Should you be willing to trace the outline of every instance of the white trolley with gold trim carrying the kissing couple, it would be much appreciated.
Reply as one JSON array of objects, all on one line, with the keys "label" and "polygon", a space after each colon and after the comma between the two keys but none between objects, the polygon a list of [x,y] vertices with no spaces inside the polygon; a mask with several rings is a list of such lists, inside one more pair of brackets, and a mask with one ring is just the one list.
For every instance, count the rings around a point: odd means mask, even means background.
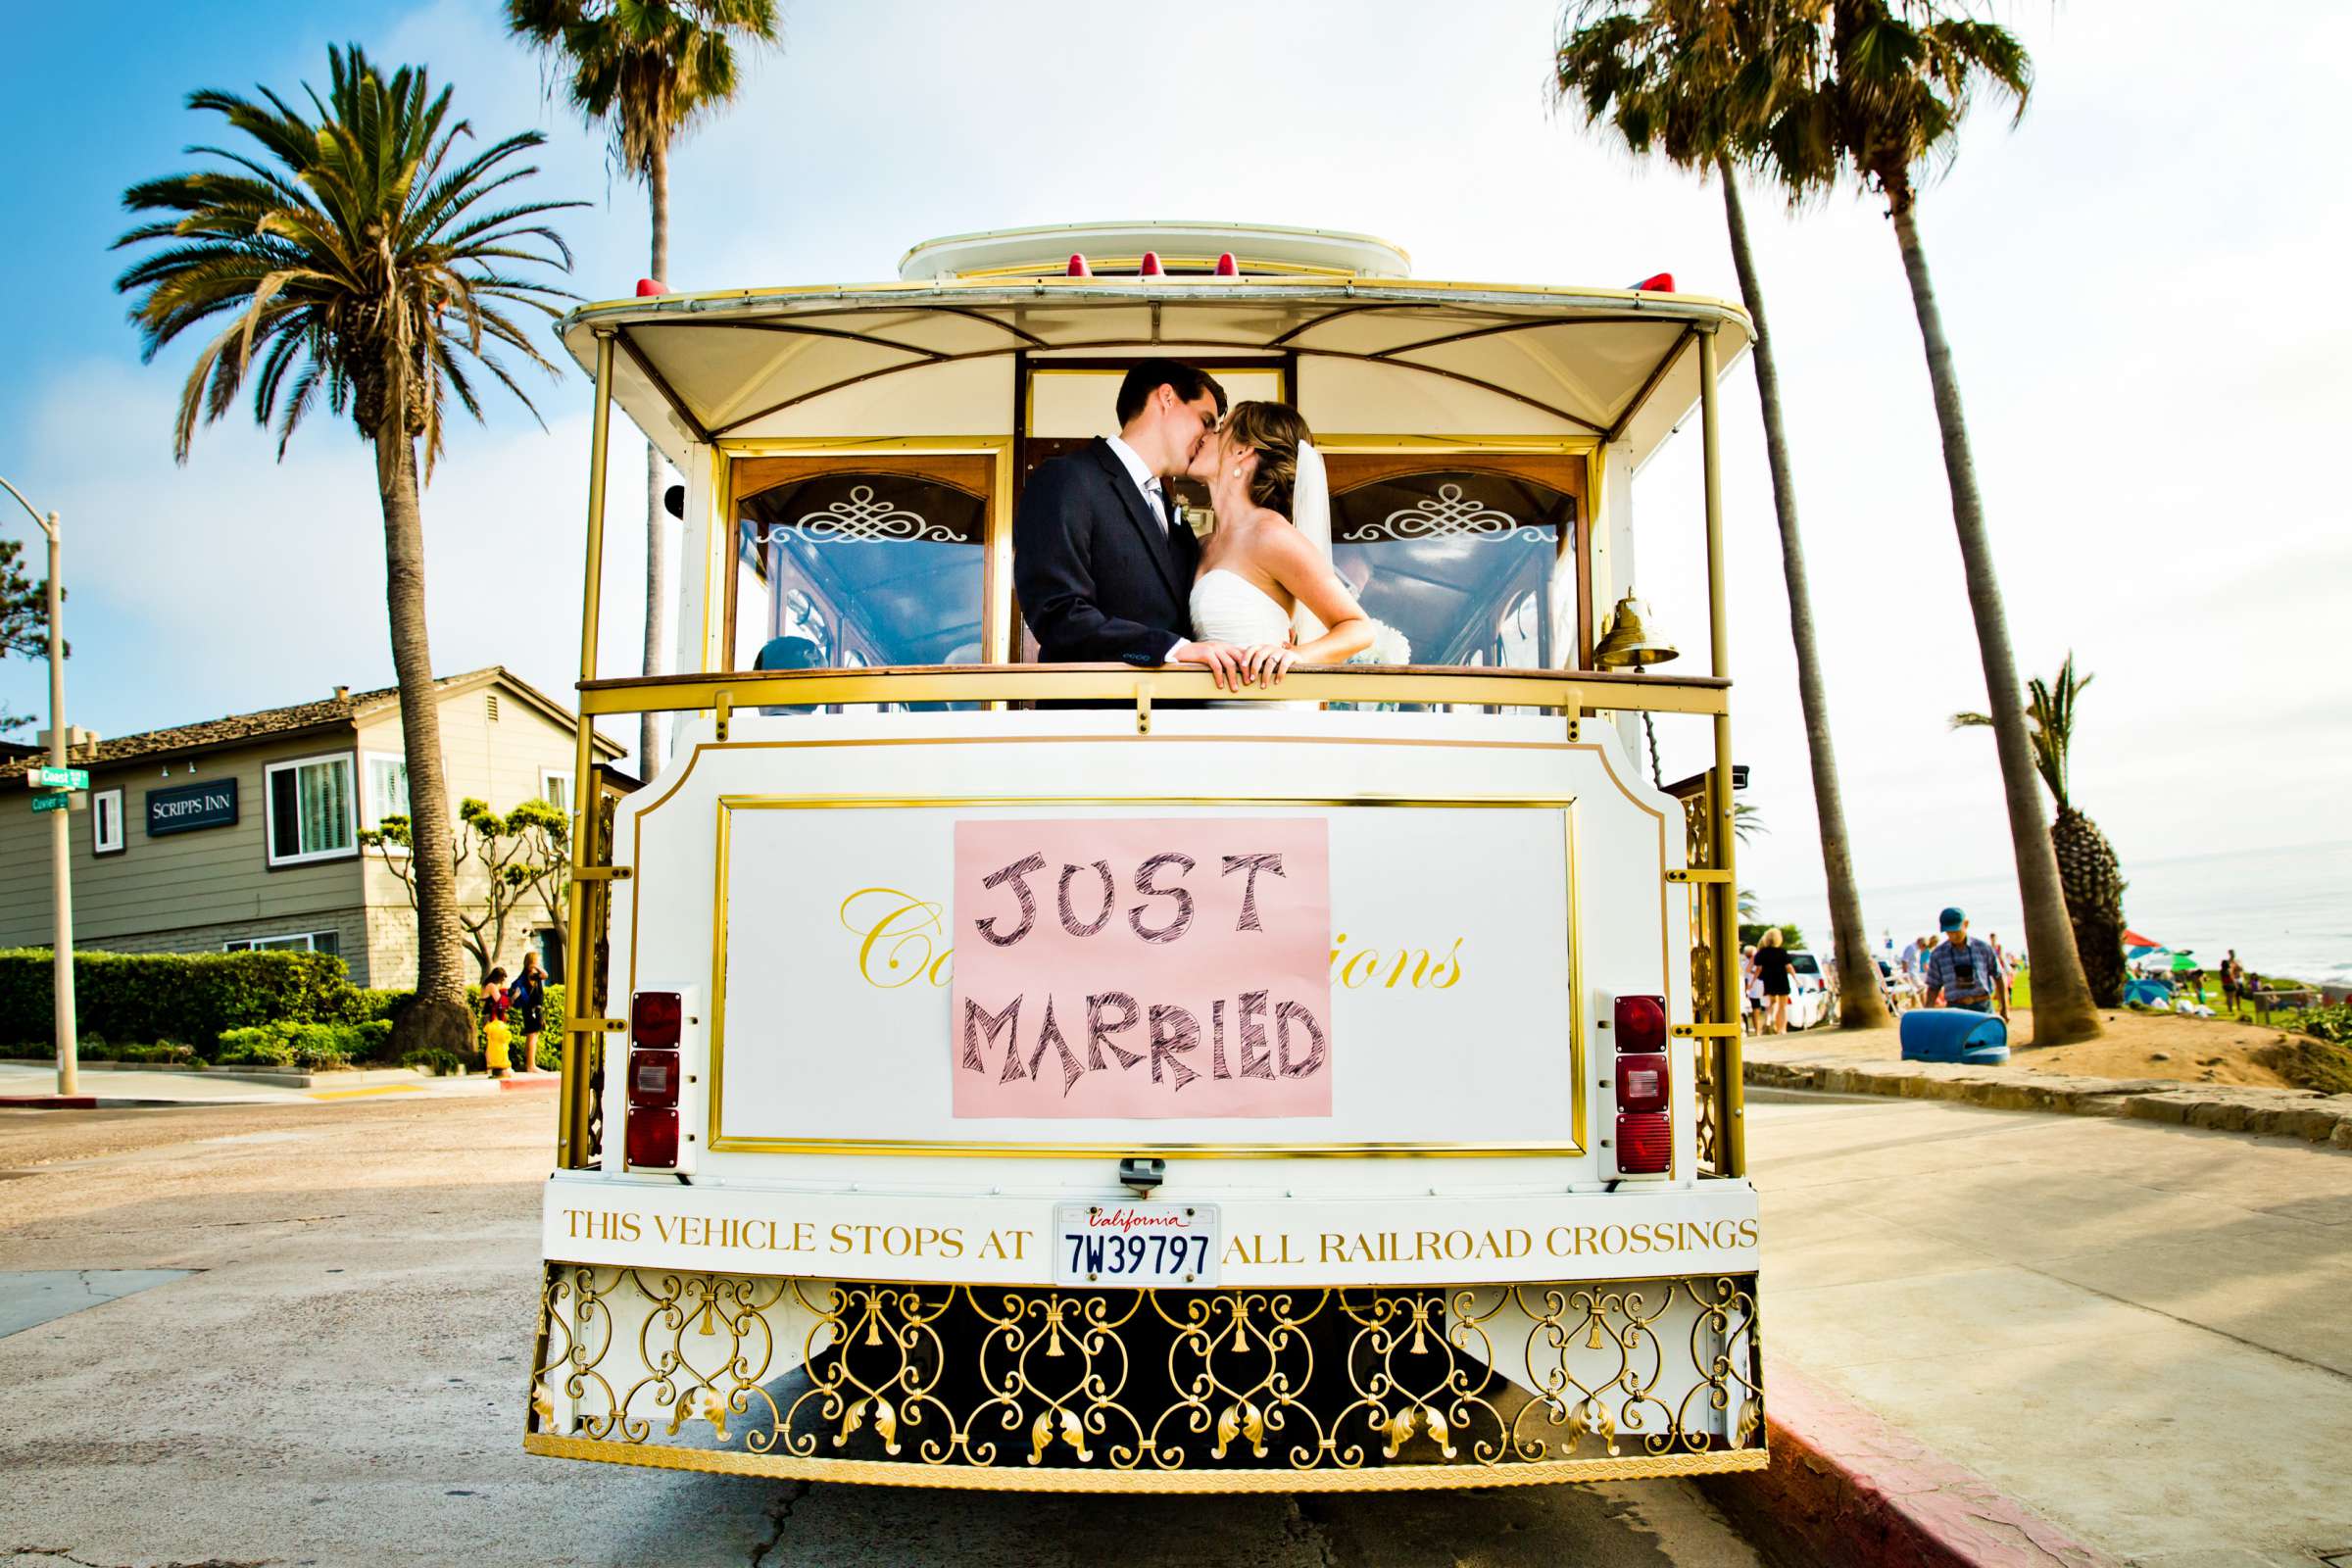
[{"label": "white trolley with gold trim carrying the kissing couple", "polygon": [[[529,1450],[1047,1490],[1764,1465],[1717,983],[1736,306],[1127,223],[560,331],[597,386],[579,776],[597,715],[675,745],[574,835]],[[1240,701],[1035,663],[1021,477],[1155,355],[1305,414],[1406,663]],[[1712,675],[1604,668],[1632,477],[1693,404]],[[677,675],[595,670],[614,407],[684,475]],[[1651,715],[1715,766],[1658,788]]]}]

